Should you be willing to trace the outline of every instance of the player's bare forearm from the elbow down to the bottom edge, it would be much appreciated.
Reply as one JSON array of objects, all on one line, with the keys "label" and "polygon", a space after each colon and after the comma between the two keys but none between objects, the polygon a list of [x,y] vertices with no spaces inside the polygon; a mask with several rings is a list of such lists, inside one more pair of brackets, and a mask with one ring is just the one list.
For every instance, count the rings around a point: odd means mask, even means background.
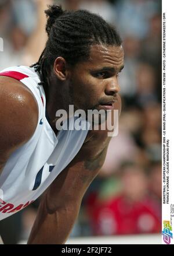
[{"label": "player's bare forearm from the elbow down to the bottom edge", "polygon": [[28,244],[66,243],[77,219],[80,205],[80,202],[76,205],[67,204],[60,206],[55,211],[50,211],[46,206],[45,198],[43,198]]}]

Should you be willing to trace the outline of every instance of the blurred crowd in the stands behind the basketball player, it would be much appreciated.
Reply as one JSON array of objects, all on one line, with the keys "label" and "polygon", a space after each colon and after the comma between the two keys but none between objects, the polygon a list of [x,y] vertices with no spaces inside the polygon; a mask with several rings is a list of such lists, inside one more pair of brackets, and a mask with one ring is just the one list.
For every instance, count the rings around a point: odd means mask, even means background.
[{"label": "blurred crowd in the stands behind the basketball player", "polygon": [[[161,233],[161,0],[0,0],[0,70],[38,60],[51,3],[99,13],[117,27],[125,50],[119,135],[85,194],[71,237]],[[27,240],[38,204],[0,222],[5,243]]]}]

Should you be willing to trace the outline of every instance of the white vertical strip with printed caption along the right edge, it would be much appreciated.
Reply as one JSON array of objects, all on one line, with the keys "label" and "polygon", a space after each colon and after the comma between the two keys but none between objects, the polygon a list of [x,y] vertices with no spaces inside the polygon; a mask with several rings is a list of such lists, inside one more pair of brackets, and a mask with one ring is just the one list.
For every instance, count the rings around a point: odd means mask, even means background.
[{"label": "white vertical strip with printed caption along the right edge", "polygon": [[[165,191],[162,190],[162,244],[167,244],[165,241],[169,241],[168,244],[174,244],[173,231],[174,231],[174,212],[171,212],[171,205],[174,207],[174,129],[173,129],[173,16],[174,9],[173,1],[162,1],[162,189],[165,186]],[[164,19],[165,13],[165,19]],[[164,22],[165,22],[165,38],[164,38]],[[164,45],[165,42],[165,52]],[[165,53],[165,54],[164,54]],[[165,62],[165,71],[163,70]],[[166,76],[165,83],[163,82],[163,76]],[[165,88],[165,95],[163,90]],[[164,104],[164,101],[165,104]],[[165,109],[164,109],[165,105]],[[163,120],[165,114],[165,119]],[[165,127],[165,133],[163,128]],[[164,142],[165,137],[165,142]],[[169,148],[166,141],[169,140]],[[167,161],[167,150],[169,149],[169,161]],[[164,153],[164,154],[163,154]],[[168,164],[169,163],[169,173]],[[167,176],[169,177],[169,197],[167,197],[168,184]],[[174,208],[173,208],[174,211]],[[166,221],[166,222],[165,222]],[[168,222],[167,222],[168,221]],[[165,226],[165,227],[164,227]],[[169,230],[171,226],[171,230]],[[165,241],[164,241],[165,239]]]}]

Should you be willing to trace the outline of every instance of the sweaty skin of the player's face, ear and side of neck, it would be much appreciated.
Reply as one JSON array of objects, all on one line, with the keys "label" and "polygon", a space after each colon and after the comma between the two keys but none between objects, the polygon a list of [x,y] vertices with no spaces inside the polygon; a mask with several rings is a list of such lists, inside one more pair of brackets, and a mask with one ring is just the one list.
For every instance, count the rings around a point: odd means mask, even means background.
[{"label": "sweaty skin of the player's face, ear and side of neck", "polygon": [[[118,75],[124,67],[122,47],[92,45],[89,61],[68,66],[61,58],[56,59],[49,80],[49,100],[46,106],[50,125],[56,130],[56,111],[70,104],[74,110],[100,109],[99,104],[117,100]],[[106,69],[103,69],[106,68]],[[60,69],[63,72],[60,73]]]}]

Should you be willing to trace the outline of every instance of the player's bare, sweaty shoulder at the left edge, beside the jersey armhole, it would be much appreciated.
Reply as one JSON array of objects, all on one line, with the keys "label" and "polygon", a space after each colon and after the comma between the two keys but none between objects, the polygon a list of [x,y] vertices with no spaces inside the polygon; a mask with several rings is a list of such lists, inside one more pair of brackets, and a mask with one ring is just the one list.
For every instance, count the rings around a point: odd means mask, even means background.
[{"label": "player's bare, sweaty shoulder at the left edge, beside the jersey armhole", "polygon": [[34,95],[23,83],[0,76],[0,157],[27,142],[38,122]]}]

